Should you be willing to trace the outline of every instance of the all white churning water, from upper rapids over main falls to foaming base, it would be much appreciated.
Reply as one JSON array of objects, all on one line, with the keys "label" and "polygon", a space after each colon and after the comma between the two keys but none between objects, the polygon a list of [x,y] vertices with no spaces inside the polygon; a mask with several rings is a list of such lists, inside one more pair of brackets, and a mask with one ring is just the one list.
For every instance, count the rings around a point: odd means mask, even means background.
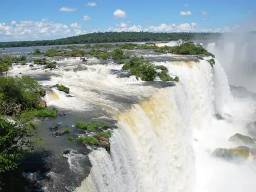
[{"label": "all white churning water, from upper rapids over main falls to foaming base", "polygon": [[[246,124],[256,120],[255,95],[235,87],[230,92],[218,60],[212,68],[209,58],[198,61],[172,54],[137,54],[167,67],[170,76],[179,77],[179,83],[137,81],[122,65],[113,61],[103,65],[95,58],[86,63],[79,58],[60,60],[56,70],[44,70],[40,65],[33,72],[26,66],[13,68],[12,75],[22,72],[41,80],[48,88],[45,100],[49,106],[76,111],[74,120],[117,120],[118,129],[110,138],[111,152],[95,149],[88,154],[92,164],[88,175],[83,175],[87,169],[79,164],[86,159],[84,154],[67,156],[70,170],[83,180],[81,186],[65,183],[58,190],[64,182],[56,182],[54,190],[45,191],[254,191],[255,161],[229,163],[212,157],[212,151],[237,147],[228,141],[236,132],[248,135]],[[70,87],[74,97],[49,88],[56,83]],[[225,119],[218,120],[216,113]]]}]

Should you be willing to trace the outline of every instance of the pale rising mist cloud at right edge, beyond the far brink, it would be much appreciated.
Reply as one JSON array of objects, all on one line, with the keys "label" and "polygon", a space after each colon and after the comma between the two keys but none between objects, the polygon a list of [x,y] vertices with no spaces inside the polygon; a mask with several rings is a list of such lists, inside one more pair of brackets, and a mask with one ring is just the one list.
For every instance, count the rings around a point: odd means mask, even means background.
[{"label": "pale rising mist cloud at right edge, beyond the far brink", "polygon": [[256,93],[256,32],[248,32],[248,24],[207,45],[224,68],[229,83]]}]

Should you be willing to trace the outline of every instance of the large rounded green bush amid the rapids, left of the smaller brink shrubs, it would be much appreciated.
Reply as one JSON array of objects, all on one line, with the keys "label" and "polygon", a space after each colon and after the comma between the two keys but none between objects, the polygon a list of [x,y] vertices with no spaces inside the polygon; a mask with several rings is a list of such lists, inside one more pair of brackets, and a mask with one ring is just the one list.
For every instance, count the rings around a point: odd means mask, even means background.
[{"label": "large rounded green bush amid the rapids, left of the smaller brink shrubs", "polygon": [[141,77],[143,81],[153,81],[156,76],[156,68],[148,60],[134,57],[123,66],[125,70],[130,69],[132,75]]}]

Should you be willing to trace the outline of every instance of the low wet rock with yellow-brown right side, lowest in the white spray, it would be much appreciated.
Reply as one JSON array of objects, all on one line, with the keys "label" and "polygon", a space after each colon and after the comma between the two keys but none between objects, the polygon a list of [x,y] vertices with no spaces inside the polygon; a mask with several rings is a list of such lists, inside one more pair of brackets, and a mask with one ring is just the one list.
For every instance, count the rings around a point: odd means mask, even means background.
[{"label": "low wet rock with yellow-brown right side, lowest in the white spray", "polygon": [[241,148],[216,148],[212,156],[238,163],[248,159],[249,152]]}]

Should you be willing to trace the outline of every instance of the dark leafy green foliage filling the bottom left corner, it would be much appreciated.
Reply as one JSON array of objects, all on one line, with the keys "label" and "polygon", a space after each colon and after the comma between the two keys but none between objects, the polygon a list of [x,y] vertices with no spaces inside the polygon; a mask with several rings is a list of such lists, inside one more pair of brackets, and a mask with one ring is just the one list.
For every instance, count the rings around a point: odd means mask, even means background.
[{"label": "dark leafy green foliage filling the bottom left corner", "polygon": [[19,163],[44,143],[33,138],[36,128],[31,113],[12,120],[0,116],[0,191],[26,191]]}]

